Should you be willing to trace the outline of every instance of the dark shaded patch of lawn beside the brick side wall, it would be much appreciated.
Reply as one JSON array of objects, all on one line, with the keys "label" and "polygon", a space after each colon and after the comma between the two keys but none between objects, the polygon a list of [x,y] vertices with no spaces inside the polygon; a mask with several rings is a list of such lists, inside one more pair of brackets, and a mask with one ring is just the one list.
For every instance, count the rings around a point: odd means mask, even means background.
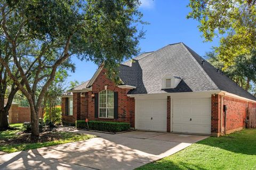
[{"label": "dark shaded patch of lawn beside the brick side wall", "polygon": [[239,154],[255,155],[256,129],[245,129],[219,138],[210,137],[197,143]]}]

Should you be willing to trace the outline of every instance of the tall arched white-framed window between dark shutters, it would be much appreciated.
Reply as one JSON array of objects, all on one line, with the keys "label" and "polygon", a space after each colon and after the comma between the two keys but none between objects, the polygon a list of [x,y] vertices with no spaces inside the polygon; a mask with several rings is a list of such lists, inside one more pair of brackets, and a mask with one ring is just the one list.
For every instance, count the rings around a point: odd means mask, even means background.
[{"label": "tall arched white-framed window between dark shutters", "polygon": [[114,91],[99,92],[99,117],[114,118]]}]

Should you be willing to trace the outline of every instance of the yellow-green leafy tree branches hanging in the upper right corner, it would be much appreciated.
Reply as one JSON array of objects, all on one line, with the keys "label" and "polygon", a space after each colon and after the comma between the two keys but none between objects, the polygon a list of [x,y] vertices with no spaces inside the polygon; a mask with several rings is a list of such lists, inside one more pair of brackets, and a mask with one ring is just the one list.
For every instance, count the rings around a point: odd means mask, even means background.
[{"label": "yellow-green leafy tree branches hanging in the upper right corner", "polygon": [[256,1],[254,0],[190,0],[188,18],[199,21],[205,41],[220,38],[215,47],[225,69],[237,56],[250,54],[256,45]]}]

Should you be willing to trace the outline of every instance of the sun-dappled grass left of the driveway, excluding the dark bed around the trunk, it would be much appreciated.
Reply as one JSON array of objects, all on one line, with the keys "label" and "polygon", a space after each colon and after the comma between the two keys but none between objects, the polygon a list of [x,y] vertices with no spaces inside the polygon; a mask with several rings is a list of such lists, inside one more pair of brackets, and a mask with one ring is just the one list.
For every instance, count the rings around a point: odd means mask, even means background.
[{"label": "sun-dappled grass left of the driveway, excluding the dark bed around the trunk", "polygon": [[[0,132],[0,140],[3,139],[15,139],[18,137],[17,133],[23,131],[22,124],[11,124],[10,126],[18,128],[18,130],[7,130]],[[77,133],[69,133],[69,132],[53,132],[61,134],[60,140],[48,141],[48,142],[37,142],[37,143],[20,143],[15,145],[0,145],[0,151],[4,151],[7,153],[21,151],[21,150],[29,150],[35,148],[42,148],[47,146],[59,145],[63,143],[81,141],[94,138],[93,135],[88,134],[77,134]]]}]

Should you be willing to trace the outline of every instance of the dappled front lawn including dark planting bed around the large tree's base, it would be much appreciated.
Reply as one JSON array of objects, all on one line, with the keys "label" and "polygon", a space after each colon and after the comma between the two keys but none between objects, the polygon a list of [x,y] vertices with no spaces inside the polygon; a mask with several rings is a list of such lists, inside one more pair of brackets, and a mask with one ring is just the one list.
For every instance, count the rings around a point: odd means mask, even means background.
[{"label": "dappled front lawn including dark planting bed around the large tree's base", "polygon": [[63,143],[91,139],[94,136],[88,134],[77,134],[69,132],[44,132],[40,134],[37,142],[30,141],[30,134],[22,134],[22,124],[11,124],[18,130],[7,130],[0,132],[0,151],[7,153],[59,145]]}]

